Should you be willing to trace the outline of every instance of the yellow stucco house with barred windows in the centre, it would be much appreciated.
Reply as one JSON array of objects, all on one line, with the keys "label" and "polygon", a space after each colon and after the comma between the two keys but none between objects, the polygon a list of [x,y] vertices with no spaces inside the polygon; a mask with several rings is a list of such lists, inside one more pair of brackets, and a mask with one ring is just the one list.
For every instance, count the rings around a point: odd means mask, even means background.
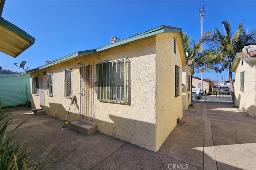
[{"label": "yellow stucco house with barred windows in the centre", "polygon": [[[182,30],[160,26],[34,68],[32,107],[157,151],[182,118]],[[44,75],[45,74],[45,75]]]}]

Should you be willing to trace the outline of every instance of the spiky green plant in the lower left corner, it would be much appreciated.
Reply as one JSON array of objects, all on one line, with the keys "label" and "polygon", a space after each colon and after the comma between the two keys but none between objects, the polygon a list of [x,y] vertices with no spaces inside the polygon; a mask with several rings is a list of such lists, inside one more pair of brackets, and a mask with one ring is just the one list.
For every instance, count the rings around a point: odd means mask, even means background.
[{"label": "spiky green plant in the lower left corner", "polygon": [[[0,111],[0,119],[1,121],[9,117],[11,113],[6,112],[4,109]],[[26,120],[25,120],[26,121]],[[20,142],[16,142],[16,139],[12,140],[11,137],[15,133],[15,131],[20,127],[25,121],[20,123],[15,129],[13,129],[7,136],[6,136],[6,129],[8,125],[12,122],[11,119],[2,123],[2,127],[0,129],[0,169],[1,170],[40,170],[42,167],[48,162],[50,157],[45,162],[32,162],[31,158],[29,158],[30,154],[35,150],[30,151],[27,147],[23,147],[24,144],[20,144]],[[24,149],[22,149],[24,148]],[[46,148],[44,148],[46,149]]]}]

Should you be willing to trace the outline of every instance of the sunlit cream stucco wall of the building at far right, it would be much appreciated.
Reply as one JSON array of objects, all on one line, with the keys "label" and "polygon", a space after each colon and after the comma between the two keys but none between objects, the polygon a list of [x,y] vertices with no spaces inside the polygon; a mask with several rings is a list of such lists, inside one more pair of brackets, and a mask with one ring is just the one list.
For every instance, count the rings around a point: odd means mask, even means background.
[{"label": "sunlit cream stucco wall of the building at far right", "polygon": [[[256,116],[256,63],[243,63],[236,68],[235,105],[250,116]],[[244,92],[240,91],[240,72],[244,71]]]}]

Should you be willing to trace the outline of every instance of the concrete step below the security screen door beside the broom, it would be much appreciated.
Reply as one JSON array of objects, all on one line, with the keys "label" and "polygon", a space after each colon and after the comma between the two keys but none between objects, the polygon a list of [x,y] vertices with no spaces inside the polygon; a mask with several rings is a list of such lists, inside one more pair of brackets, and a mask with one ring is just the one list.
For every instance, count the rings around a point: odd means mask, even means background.
[{"label": "concrete step below the security screen door beside the broom", "polygon": [[89,123],[84,123],[82,121],[73,121],[68,124],[69,129],[78,131],[84,135],[92,135],[97,131],[96,125],[91,125]]}]

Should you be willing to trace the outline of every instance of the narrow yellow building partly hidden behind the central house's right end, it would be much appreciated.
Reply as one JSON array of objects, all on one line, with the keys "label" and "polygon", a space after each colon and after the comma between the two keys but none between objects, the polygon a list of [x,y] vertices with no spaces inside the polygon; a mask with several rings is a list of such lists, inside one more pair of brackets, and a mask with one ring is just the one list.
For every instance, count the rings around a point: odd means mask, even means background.
[{"label": "narrow yellow building partly hidden behind the central house's right end", "polygon": [[193,61],[188,60],[188,65],[182,66],[182,108],[187,110],[191,104],[192,74],[194,74]]}]

